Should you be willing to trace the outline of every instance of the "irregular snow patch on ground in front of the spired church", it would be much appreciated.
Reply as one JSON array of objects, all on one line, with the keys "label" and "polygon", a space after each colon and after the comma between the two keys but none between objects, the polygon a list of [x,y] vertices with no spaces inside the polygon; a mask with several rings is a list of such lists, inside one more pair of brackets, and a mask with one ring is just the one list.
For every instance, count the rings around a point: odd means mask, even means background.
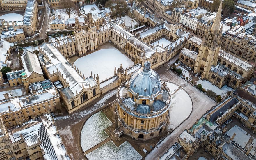
[{"label": "irregular snow patch on ground in front of the spired church", "polygon": [[233,91],[233,89],[227,85],[224,85],[221,89],[219,89],[217,86],[212,85],[211,82],[201,79],[197,81],[197,84],[201,84],[205,90],[212,90],[217,95],[221,95],[221,97],[226,97],[228,91]]}]

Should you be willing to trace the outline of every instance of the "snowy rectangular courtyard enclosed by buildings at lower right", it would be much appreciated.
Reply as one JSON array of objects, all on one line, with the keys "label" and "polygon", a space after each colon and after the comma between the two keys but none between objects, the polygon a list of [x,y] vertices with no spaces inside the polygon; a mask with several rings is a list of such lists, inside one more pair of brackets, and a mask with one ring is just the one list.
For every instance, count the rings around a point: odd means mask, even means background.
[{"label": "snowy rectangular courtyard enclosed by buildings at lower right", "polygon": [[236,141],[242,147],[245,147],[251,138],[251,135],[248,134],[245,130],[241,129],[238,125],[235,125],[229,131],[227,131],[227,134],[230,137],[232,137],[234,133],[236,133],[234,141]]}]

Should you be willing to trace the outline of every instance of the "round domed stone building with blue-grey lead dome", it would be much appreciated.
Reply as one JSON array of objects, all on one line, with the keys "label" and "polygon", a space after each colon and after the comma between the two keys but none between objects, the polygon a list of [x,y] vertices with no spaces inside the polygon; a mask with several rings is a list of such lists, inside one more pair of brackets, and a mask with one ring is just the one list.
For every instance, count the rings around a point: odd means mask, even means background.
[{"label": "round domed stone building with blue-grey lead dome", "polygon": [[150,62],[146,61],[117,92],[118,126],[135,139],[159,136],[168,122],[170,90],[150,67]]}]

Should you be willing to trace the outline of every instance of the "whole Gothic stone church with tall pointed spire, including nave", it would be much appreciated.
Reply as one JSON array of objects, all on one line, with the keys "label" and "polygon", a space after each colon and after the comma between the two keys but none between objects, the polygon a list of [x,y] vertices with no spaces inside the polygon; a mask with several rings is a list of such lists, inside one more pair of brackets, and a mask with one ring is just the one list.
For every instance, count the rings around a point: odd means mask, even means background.
[{"label": "whole Gothic stone church with tall pointed spire, including nave", "polygon": [[[221,88],[225,84],[236,88],[253,75],[253,65],[221,50],[223,40],[221,19],[221,5],[211,29],[203,40],[193,38],[187,48],[180,52],[179,60],[193,68],[194,73],[207,79]],[[200,47],[199,47],[200,46]],[[199,48],[199,49],[198,49]],[[197,53],[198,51],[198,53]]]}]

